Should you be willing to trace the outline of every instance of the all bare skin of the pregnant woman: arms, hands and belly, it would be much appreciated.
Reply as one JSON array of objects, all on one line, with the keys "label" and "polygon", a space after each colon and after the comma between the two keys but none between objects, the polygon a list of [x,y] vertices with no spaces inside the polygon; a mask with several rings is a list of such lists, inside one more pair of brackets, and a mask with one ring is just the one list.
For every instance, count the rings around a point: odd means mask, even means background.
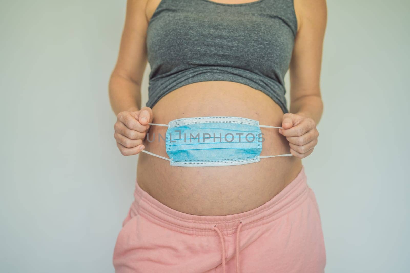
[{"label": "all bare skin of the pregnant woman: arms, hands and belly", "polygon": [[[192,83],[164,96],[154,107],[141,108],[141,81],[147,64],[146,30],[160,0],[128,0],[118,61],[109,81],[109,97],[117,121],[114,138],[125,156],[142,149],[168,157],[164,141],[148,142],[147,133],[165,135],[167,124],[182,117],[238,116],[284,129],[262,128],[261,155],[292,153],[261,162],[216,167],[176,167],[145,153],[139,155],[137,181],[155,199],[175,210],[196,215],[236,214],[266,203],[301,170],[301,159],[318,142],[317,123],[323,103],[319,88],[325,0],[295,0],[298,20],[290,69],[290,113],[267,95],[229,81]],[[252,1],[214,1],[236,4]],[[194,94],[193,91],[195,90]]]}]

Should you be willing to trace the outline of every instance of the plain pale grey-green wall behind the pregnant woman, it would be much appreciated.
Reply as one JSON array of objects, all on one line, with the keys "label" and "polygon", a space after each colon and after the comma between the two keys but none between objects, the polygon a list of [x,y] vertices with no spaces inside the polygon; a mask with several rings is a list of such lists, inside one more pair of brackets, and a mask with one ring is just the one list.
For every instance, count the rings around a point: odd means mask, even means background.
[{"label": "plain pale grey-green wall behind the pregnant woman", "polygon": [[[410,267],[409,8],[328,1],[325,110],[303,160],[326,272]],[[124,12],[125,0],[2,3],[1,272],[113,272],[137,161],[116,148],[107,96]]]}]

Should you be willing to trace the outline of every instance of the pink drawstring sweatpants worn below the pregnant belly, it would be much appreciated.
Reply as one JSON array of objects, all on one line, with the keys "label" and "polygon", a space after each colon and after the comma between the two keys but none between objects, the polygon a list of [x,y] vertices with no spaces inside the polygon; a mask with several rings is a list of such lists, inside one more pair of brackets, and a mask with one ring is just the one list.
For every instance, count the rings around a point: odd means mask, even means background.
[{"label": "pink drawstring sweatpants worn below the pregnant belly", "polygon": [[173,210],[136,183],[114,248],[116,273],[320,273],[326,264],[319,208],[298,176],[258,208],[225,216]]}]

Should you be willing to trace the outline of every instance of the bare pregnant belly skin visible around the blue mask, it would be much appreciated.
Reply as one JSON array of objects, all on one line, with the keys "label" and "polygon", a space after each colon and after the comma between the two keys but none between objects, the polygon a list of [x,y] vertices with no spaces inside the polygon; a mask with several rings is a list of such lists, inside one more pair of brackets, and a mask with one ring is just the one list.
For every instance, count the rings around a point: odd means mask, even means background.
[{"label": "bare pregnant belly skin visible around the blue mask", "polygon": [[[267,95],[230,81],[192,83],[163,97],[153,107],[153,123],[168,124],[183,117],[234,116],[281,126],[283,112]],[[289,153],[289,142],[278,129],[261,128],[261,156]],[[151,126],[145,150],[168,158],[166,127]],[[212,167],[170,166],[169,161],[140,153],[138,185],[164,205],[194,215],[227,215],[245,212],[266,203],[301,170],[294,156],[262,158],[260,162]]]}]

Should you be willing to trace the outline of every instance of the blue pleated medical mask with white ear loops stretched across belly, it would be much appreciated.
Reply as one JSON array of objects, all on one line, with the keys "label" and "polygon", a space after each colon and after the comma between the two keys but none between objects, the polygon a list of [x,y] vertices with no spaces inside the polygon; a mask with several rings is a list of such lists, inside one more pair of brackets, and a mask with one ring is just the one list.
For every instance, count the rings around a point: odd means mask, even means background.
[{"label": "blue pleated medical mask with white ear loops stretched across belly", "polygon": [[152,156],[169,160],[171,166],[227,166],[259,162],[260,158],[292,156],[260,156],[262,131],[259,121],[243,117],[190,117],[172,120],[166,126],[165,147],[169,158],[143,150]]}]

